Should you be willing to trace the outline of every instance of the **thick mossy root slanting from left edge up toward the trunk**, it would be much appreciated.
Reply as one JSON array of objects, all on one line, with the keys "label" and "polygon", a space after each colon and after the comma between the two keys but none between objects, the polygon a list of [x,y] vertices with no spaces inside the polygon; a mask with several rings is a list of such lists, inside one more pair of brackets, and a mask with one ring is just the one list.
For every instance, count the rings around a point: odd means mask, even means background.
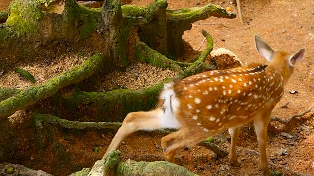
[{"label": "thick mossy root slanting from left edge up toward the trunk", "polygon": [[96,54],[86,60],[81,66],[59,74],[44,85],[27,88],[13,97],[1,101],[0,118],[8,117],[18,110],[34,105],[39,100],[48,98],[54,95],[60,88],[77,84],[88,78],[97,70],[103,60],[104,55]]}]

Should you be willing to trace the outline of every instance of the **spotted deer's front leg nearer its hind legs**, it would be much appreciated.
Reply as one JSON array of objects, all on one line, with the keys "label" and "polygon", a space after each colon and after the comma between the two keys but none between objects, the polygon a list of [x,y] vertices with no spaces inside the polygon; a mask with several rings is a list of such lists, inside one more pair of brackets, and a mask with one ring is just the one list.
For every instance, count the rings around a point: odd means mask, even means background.
[{"label": "spotted deer's front leg nearer its hind legs", "polygon": [[236,139],[240,134],[240,128],[239,127],[233,127],[229,128],[229,134],[231,136],[231,147],[230,147],[230,154],[229,154],[229,160],[234,166],[239,166],[241,164],[241,161],[237,160],[236,156]]}]

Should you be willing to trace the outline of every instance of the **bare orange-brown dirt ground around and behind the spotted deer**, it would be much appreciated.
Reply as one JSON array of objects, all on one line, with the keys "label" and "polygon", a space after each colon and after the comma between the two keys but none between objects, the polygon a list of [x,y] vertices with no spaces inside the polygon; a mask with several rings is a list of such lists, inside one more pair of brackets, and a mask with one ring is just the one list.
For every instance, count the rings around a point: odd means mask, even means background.
[{"label": "bare orange-brown dirt ground around and behind the spotted deer", "polygon": [[[1,0],[0,10],[5,10],[9,1]],[[152,1],[135,0],[131,4],[146,5]],[[168,8],[201,7],[208,3],[223,7],[230,6],[236,11],[236,7],[230,4],[230,0],[168,0]],[[243,64],[264,62],[255,49],[254,34],[260,35],[274,49],[296,52],[304,47],[306,49],[304,60],[295,67],[285,94],[273,111],[273,116],[288,118],[314,104],[314,51],[312,50],[314,48],[314,12],[309,8],[312,6],[314,6],[313,0],[241,0],[244,25],[241,24],[239,18],[230,20],[211,17],[193,23],[192,29],[186,31],[183,38],[194,49],[198,49],[204,39],[201,34],[201,30],[204,29],[213,37],[214,49],[225,47],[231,50]],[[200,50],[204,50],[205,47],[206,42]],[[289,90],[296,90],[298,93],[291,94]],[[282,107],[287,103],[287,106]],[[267,155],[275,164],[288,167],[295,172],[314,175],[314,110],[300,117],[298,123],[305,124],[307,128],[301,128],[297,123],[293,123],[290,128],[285,128],[278,122],[271,123],[268,132]],[[283,136],[283,132],[291,134],[292,137]],[[229,137],[227,131],[221,134]],[[60,141],[68,146],[70,151],[74,151],[74,154],[81,155],[84,160],[89,159],[88,163],[93,163],[105,154],[113,136],[114,133],[102,135],[90,132],[86,136],[80,136],[79,139],[73,136],[76,139],[71,144],[62,139]],[[163,135],[154,132],[135,132],[119,147],[121,160],[128,158],[145,161],[162,160],[162,151],[157,145],[160,145],[161,137]],[[229,150],[225,143],[215,140],[215,144]],[[90,150],[94,145],[99,146],[98,154]],[[249,124],[242,128],[237,146],[239,146],[238,157],[242,160],[240,167],[232,167],[227,157],[216,159],[211,151],[198,146],[188,150],[179,149],[177,161],[178,164],[200,176],[262,176],[258,169],[259,156],[245,149],[258,151],[253,126]],[[286,151],[285,154],[282,154],[283,150]],[[49,173],[49,168],[45,168],[45,165],[35,167],[36,170],[40,169]],[[290,174],[282,168],[272,167],[272,170],[283,172],[285,176]]]}]

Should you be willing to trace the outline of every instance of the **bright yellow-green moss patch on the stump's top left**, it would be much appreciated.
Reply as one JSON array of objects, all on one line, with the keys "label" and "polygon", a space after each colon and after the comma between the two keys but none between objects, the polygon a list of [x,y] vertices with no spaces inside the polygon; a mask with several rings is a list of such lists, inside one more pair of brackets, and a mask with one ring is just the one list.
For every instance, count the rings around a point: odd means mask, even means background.
[{"label": "bright yellow-green moss patch on the stump's top left", "polygon": [[31,0],[15,0],[9,5],[9,17],[5,24],[17,37],[36,33],[36,22],[42,17],[38,3]]}]

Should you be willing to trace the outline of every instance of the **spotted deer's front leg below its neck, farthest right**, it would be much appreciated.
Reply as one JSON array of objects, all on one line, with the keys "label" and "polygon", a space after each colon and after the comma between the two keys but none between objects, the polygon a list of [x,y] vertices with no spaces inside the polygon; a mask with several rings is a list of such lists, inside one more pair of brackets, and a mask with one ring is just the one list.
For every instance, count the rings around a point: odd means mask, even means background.
[{"label": "spotted deer's front leg below its neck, farthest right", "polygon": [[265,113],[259,113],[254,119],[254,128],[257,135],[257,140],[260,146],[260,159],[261,169],[267,176],[271,176],[273,173],[268,167],[266,147],[267,147],[267,126],[270,120],[270,111]]}]

